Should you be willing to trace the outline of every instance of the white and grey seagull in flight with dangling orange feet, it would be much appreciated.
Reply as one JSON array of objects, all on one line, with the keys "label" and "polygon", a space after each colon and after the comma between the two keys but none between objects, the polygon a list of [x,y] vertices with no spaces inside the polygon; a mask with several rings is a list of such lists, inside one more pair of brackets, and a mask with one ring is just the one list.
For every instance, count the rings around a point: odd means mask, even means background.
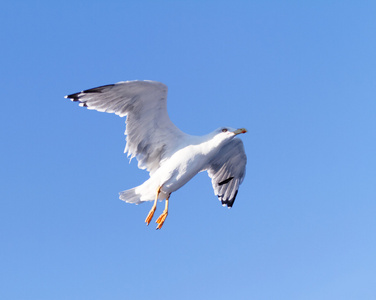
[{"label": "white and grey seagull in flight with dangling orange feet", "polygon": [[149,225],[158,200],[165,209],[156,220],[161,229],[168,215],[171,193],[197,173],[207,171],[214,194],[231,208],[245,176],[247,157],[243,142],[236,138],[245,128],[221,127],[204,136],[189,135],[177,128],[167,113],[167,86],[150,80],[121,81],[65,96],[79,106],[126,116],[126,147],[130,160],[150,178],[120,192],[120,199],[140,204],[154,201],[145,219]]}]

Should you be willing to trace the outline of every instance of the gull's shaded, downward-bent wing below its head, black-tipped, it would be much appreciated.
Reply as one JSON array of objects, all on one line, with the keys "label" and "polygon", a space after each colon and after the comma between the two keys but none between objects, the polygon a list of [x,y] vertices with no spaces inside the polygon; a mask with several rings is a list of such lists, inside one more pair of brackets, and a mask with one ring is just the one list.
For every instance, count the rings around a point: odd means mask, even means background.
[{"label": "gull's shaded, downward-bent wing below its head, black-tipped", "polygon": [[223,206],[232,207],[234,204],[245,176],[246,164],[243,142],[238,138],[226,144],[210,162],[207,171],[212,179],[214,193]]}]

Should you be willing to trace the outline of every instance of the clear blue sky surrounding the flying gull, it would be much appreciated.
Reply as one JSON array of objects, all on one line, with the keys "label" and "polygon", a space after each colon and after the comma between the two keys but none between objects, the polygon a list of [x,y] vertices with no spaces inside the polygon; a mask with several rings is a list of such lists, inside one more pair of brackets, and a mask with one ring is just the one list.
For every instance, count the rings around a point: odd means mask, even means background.
[{"label": "clear blue sky surrounding the flying gull", "polygon": [[[376,299],[375,16],[374,1],[2,1],[0,298]],[[64,96],[134,79],[169,87],[187,133],[248,129],[231,210],[206,173],[159,231],[152,203],[118,199],[148,178],[125,120]]]}]

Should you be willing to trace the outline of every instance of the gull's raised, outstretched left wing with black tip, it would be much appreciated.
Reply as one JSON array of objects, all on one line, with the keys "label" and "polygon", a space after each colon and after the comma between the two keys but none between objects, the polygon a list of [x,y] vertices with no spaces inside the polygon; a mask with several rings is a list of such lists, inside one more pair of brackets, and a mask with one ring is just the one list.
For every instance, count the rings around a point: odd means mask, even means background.
[{"label": "gull's raised, outstretched left wing with black tip", "polygon": [[167,113],[167,86],[156,81],[122,81],[65,96],[80,106],[115,113],[126,119],[128,156],[138,167],[153,173],[160,161],[172,154],[187,134]]}]

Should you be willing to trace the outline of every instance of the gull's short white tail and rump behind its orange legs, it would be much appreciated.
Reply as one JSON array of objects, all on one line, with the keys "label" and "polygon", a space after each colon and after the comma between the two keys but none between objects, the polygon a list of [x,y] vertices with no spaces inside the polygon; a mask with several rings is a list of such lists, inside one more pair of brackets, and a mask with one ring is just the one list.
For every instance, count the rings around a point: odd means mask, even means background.
[{"label": "gull's short white tail and rump behind its orange legs", "polygon": [[119,198],[120,200],[123,200],[127,203],[134,204],[140,204],[146,201],[154,201],[157,189],[158,185],[154,184],[149,179],[133,189],[120,192]]}]

